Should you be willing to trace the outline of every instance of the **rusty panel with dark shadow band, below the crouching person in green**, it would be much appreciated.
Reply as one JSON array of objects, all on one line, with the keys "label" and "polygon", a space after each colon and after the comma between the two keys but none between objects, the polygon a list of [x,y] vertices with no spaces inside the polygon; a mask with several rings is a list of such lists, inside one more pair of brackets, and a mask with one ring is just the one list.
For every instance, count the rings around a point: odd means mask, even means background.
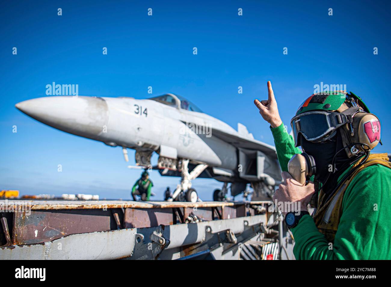
[{"label": "rusty panel with dark shadow band, below the crouching person in green", "polygon": [[125,228],[133,227],[151,227],[163,225],[172,225],[174,215],[172,209],[151,208],[151,209],[125,209]]}]

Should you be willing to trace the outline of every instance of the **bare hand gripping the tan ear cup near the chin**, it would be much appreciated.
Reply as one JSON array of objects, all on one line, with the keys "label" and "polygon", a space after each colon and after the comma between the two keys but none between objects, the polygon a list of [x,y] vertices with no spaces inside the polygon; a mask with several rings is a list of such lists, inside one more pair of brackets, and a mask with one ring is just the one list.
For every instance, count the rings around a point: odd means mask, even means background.
[{"label": "bare hand gripping the tan ear cup near the chin", "polygon": [[[276,193],[273,196],[273,202],[277,202],[277,207],[294,207],[295,209],[308,211],[307,205],[310,203],[312,194],[314,194],[314,183],[309,181],[307,185],[301,185],[292,178],[292,176],[283,171],[281,173],[283,182],[278,186]],[[279,204],[279,202],[281,202]],[[295,203],[296,202],[296,203]],[[280,210],[284,216],[287,212],[297,212],[298,210]]]}]

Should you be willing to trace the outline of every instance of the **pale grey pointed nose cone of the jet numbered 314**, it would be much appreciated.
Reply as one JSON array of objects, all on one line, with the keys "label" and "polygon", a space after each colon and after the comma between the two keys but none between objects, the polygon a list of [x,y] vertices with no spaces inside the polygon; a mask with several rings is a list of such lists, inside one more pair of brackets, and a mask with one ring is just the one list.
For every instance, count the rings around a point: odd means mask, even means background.
[{"label": "pale grey pointed nose cone of the jet numbered 314", "polygon": [[109,112],[102,98],[50,96],[15,105],[28,116],[70,134],[94,139],[107,126]]}]

